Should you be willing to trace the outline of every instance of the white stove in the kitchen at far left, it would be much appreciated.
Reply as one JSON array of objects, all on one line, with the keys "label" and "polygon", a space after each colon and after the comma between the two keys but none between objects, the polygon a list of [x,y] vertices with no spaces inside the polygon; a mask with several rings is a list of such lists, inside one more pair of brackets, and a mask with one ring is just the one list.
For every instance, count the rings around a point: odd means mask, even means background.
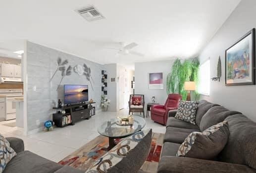
[{"label": "white stove in the kitchen at far left", "polygon": [[0,101],[4,102],[5,107],[5,120],[16,119],[16,102],[14,98],[21,98],[22,89],[0,89]]}]

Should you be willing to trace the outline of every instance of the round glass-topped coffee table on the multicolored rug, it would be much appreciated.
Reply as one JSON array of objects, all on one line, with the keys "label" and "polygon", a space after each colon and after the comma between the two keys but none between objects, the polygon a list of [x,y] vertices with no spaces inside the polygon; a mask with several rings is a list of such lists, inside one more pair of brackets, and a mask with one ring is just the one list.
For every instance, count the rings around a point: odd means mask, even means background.
[{"label": "round glass-topped coffee table on the multicolored rug", "polygon": [[132,126],[117,125],[117,118],[110,119],[101,124],[101,126],[98,128],[98,132],[101,135],[108,137],[108,150],[115,146],[115,138],[127,137],[137,131],[142,130],[146,125],[146,121],[139,116],[133,116],[133,120],[134,123]]}]

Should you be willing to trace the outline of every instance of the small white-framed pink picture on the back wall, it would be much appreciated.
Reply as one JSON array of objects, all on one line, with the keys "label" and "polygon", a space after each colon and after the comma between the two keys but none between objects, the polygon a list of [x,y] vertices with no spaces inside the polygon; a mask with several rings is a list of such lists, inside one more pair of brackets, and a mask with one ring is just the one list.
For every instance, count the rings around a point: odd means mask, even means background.
[{"label": "small white-framed pink picture on the back wall", "polygon": [[149,89],[163,89],[163,73],[149,73]]}]

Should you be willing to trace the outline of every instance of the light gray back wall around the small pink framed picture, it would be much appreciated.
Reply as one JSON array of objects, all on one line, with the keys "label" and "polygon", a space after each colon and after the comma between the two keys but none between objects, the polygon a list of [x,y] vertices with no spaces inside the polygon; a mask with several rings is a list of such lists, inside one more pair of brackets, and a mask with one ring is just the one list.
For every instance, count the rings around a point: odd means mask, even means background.
[{"label": "light gray back wall around the small pink framed picture", "polygon": [[[155,96],[155,102],[165,103],[166,77],[171,71],[173,62],[174,60],[135,63],[135,94],[145,95],[145,105],[152,102],[152,96]],[[163,72],[163,89],[149,89],[149,72]]]}]

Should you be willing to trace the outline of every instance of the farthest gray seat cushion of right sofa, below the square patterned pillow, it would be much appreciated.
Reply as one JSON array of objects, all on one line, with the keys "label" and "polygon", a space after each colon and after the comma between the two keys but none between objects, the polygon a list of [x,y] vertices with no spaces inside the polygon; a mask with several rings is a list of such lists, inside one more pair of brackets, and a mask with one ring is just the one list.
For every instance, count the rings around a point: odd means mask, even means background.
[{"label": "farthest gray seat cushion of right sofa, below the square patterned pillow", "polygon": [[169,117],[166,123],[166,127],[174,127],[174,128],[184,128],[184,129],[196,129],[199,130],[197,125],[193,125],[191,123],[178,120],[174,117]]}]

